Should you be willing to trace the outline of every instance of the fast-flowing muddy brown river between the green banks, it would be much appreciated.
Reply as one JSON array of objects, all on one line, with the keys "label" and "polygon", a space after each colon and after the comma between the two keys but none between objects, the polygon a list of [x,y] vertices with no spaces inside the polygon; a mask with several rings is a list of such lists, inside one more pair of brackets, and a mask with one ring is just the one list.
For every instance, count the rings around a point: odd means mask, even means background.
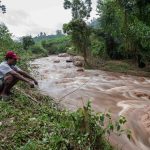
[{"label": "fast-flowing muddy brown river between the green banks", "polygon": [[112,135],[110,141],[122,150],[150,150],[150,78],[101,70],[78,72],[66,59],[49,56],[30,63],[40,91],[70,110],[91,100],[96,112],[109,110],[115,117],[126,116],[131,140]]}]

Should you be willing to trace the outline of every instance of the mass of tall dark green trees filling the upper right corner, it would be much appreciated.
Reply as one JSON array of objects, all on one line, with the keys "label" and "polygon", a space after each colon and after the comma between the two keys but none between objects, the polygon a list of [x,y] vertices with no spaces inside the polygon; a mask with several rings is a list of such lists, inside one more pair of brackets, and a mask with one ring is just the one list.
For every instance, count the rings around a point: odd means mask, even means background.
[{"label": "mass of tall dark green trees filling the upper right corner", "polygon": [[98,0],[97,10],[100,31],[119,41],[118,47],[106,41],[108,54],[122,53],[144,67],[150,60],[150,0]]}]

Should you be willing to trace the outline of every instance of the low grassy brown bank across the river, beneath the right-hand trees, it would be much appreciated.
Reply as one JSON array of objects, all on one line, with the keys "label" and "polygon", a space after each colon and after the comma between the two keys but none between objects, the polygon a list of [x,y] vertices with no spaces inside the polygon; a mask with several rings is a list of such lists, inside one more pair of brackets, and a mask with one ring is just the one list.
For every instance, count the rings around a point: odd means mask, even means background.
[{"label": "low grassy brown bank across the river, beneath the right-hand trees", "polygon": [[91,65],[86,66],[87,69],[99,69],[126,75],[150,77],[150,66],[139,68],[137,64],[131,60],[93,60],[90,63]]}]

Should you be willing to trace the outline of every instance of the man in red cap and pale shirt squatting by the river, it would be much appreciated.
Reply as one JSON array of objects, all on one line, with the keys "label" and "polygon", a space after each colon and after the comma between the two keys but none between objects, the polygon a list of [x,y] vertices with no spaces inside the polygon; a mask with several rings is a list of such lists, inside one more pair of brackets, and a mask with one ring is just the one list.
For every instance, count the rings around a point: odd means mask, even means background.
[{"label": "man in red cap and pale shirt squatting by the river", "polygon": [[27,82],[31,88],[38,85],[38,82],[27,72],[16,66],[19,57],[13,51],[8,51],[5,55],[5,61],[0,64],[0,95],[7,99],[11,88],[19,81]]}]

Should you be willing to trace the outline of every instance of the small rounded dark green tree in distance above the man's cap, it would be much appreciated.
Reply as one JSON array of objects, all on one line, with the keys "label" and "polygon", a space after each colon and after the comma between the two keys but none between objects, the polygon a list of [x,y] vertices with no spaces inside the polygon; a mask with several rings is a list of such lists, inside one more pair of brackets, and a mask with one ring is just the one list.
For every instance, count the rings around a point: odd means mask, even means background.
[{"label": "small rounded dark green tree in distance above the man's cap", "polygon": [[30,46],[34,45],[35,42],[31,36],[24,36],[22,38],[23,48],[27,50]]}]

